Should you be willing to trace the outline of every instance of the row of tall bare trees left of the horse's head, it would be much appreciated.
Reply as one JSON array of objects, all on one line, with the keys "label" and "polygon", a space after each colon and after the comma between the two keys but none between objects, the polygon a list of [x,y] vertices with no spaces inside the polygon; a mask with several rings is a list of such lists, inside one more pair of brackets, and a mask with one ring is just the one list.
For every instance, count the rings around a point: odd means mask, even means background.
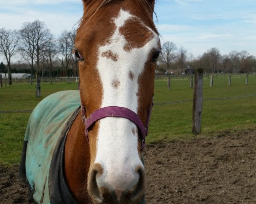
[{"label": "row of tall bare trees left of the horse's head", "polygon": [[40,20],[23,23],[20,30],[1,28],[0,54],[5,57],[7,65],[1,65],[0,72],[4,72],[4,68],[7,68],[10,77],[11,59],[19,54],[19,59],[25,62],[27,67],[29,66],[31,75],[41,73],[43,76],[44,71],[47,70],[51,79],[52,71],[60,65],[65,76],[69,76],[69,68],[73,69],[76,75],[77,59],[72,55],[75,37],[75,29],[64,30],[59,37],[54,37],[45,23]]}]

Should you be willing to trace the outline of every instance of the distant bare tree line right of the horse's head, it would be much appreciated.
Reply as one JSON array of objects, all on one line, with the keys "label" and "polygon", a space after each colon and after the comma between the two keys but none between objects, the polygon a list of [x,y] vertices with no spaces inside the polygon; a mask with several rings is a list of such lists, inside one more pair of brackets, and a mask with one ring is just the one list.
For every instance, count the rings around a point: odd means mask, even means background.
[{"label": "distant bare tree line right of the horse's head", "polygon": [[162,55],[157,63],[159,73],[187,74],[195,68],[204,68],[205,73],[212,74],[256,72],[256,57],[244,50],[221,55],[218,48],[211,48],[195,58],[182,46],[178,49],[174,42],[163,43]]}]

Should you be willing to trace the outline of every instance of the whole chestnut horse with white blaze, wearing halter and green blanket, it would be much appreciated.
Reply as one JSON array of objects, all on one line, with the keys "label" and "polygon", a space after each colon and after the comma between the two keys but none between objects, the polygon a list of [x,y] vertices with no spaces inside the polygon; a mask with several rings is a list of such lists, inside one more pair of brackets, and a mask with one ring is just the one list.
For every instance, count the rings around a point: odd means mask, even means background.
[{"label": "whole chestnut horse with white blaze, wearing halter and green blanket", "polygon": [[43,99],[19,176],[35,203],[143,204],[145,147],[161,52],[154,0],[83,0],[79,91]]}]

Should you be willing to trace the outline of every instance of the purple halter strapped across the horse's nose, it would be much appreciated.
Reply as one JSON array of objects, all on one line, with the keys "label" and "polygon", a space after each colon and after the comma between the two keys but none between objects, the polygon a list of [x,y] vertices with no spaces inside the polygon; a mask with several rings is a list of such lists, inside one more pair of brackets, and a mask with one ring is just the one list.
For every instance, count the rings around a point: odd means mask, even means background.
[{"label": "purple halter strapped across the horse's nose", "polygon": [[128,108],[119,107],[119,106],[108,106],[108,107],[100,108],[100,109],[94,111],[92,114],[90,114],[90,116],[85,118],[85,108],[81,102],[82,121],[83,121],[84,127],[85,127],[84,133],[85,133],[88,143],[89,143],[88,132],[96,121],[98,121],[102,118],[106,118],[106,117],[121,117],[121,118],[129,119],[129,120],[131,120],[131,122],[134,122],[134,124],[137,125],[138,134],[142,141],[141,150],[143,150],[145,148],[145,137],[148,135],[148,125],[149,125],[150,115],[151,115],[151,110],[152,110],[153,105],[154,105],[154,103],[152,100],[152,105],[148,109],[147,120],[146,120],[146,124],[144,127],[143,122],[141,121],[140,117],[136,113],[134,113],[134,111],[131,111]]}]

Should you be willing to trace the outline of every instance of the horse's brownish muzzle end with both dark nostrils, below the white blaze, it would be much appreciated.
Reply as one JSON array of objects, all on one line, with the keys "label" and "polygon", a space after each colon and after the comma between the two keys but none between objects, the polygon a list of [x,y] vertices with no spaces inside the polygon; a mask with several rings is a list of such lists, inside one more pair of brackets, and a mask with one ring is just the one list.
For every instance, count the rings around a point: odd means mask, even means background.
[{"label": "horse's brownish muzzle end with both dark nostrils, below the white blaze", "polygon": [[[144,167],[135,167],[133,174],[137,175],[136,182],[127,181],[128,187],[125,190],[116,189],[105,182],[102,166],[93,164],[88,174],[88,193],[95,204],[140,204],[145,193]],[[124,178],[116,178],[120,181],[122,179]]]}]

